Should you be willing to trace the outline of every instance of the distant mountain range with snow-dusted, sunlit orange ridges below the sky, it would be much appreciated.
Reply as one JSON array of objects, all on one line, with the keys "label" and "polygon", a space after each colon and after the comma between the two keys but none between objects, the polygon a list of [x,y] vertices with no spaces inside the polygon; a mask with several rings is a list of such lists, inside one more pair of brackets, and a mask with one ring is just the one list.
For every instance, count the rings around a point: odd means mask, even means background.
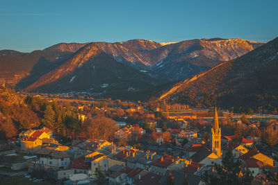
[{"label": "distant mountain range with snow-dusted, sunlit orange ridges below the sky", "polygon": [[[263,45],[245,39],[158,43],[61,43],[42,51],[0,51],[0,80],[24,91],[128,94],[190,78]],[[116,95],[116,96],[117,96]]]}]

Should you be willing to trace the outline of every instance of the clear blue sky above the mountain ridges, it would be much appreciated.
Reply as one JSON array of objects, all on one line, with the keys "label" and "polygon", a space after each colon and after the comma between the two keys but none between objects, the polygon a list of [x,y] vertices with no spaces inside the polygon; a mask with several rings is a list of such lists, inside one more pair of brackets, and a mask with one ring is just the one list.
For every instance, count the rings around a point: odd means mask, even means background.
[{"label": "clear blue sky above the mountain ridges", "polygon": [[277,0],[0,0],[0,50],[129,39],[268,42],[278,36],[277,7]]}]

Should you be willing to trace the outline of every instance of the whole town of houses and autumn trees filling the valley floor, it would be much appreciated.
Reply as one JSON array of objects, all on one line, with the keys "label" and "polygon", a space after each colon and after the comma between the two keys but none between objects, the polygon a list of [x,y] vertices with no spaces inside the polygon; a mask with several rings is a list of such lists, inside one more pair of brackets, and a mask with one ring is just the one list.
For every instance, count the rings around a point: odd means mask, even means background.
[{"label": "whole town of houses and autumn trees filling the valley floor", "polygon": [[[17,177],[34,184],[209,184],[236,160],[234,176],[226,179],[231,184],[277,183],[275,115],[44,94],[24,99],[33,108],[45,104],[42,123],[6,130],[0,182]],[[72,130],[56,118],[69,109],[76,115],[66,118]]]}]

